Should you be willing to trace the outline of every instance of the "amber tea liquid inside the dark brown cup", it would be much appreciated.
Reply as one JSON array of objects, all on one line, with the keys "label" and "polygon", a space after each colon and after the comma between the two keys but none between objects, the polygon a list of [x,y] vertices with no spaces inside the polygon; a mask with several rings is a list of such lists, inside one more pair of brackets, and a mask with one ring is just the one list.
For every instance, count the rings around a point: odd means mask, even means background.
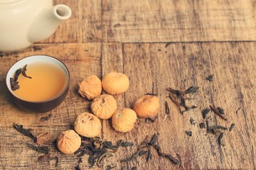
[{"label": "amber tea liquid inside the dark brown cup", "polygon": [[26,74],[32,79],[19,75],[20,89],[14,94],[26,101],[45,101],[58,95],[65,86],[65,73],[50,63],[33,63],[26,67]]}]

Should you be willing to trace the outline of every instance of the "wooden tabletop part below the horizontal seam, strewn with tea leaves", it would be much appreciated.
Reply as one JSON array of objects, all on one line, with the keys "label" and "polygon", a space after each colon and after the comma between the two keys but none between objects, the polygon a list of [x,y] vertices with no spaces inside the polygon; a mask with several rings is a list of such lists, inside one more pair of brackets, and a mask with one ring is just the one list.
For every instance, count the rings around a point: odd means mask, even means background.
[{"label": "wooden tabletop part below the horizontal seam, strewn with tea leaves", "polygon": [[[61,131],[70,128],[70,124],[79,113],[90,111],[90,102],[81,98],[75,90],[77,82],[89,74],[101,77],[107,72],[118,71],[127,74],[131,81],[127,92],[115,96],[119,108],[131,108],[139,96],[153,92],[159,94],[161,98],[161,111],[154,123],[139,125],[139,122],[144,121],[139,118],[134,129],[124,134],[115,132],[110,121],[102,120],[103,140],[117,142],[122,139],[135,144],[134,147],[119,149],[114,157],[103,161],[103,166],[116,163],[117,169],[122,166],[126,169],[131,169],[133,166],[137,166],[138,169],[178,169],[179,166],[158,157],[154,151],[154,157],[147,164],[144,157],[134,159],[127,164],[119,163],[120,159],[130,157],[136,152],[136,146],[146,135],[151,137],[159,132],[159,145],[164,152],[174,157],[176,154],[181,156],[180,169],[254,169],[256,164],[254,152],[256,121],[253,115],[255,110],[253,98],[256,96],[254,89],[256,72],[253,69],[255,46],[255,42],[103,43],[101,58],[99,43],[36,45],[20,52],[19,57],[15,57],[15,54],[4,55],[0,58],[1,63],[10,63],[31,53],[53,55],[56,53],[51,51],[58,49],[58,58],[67,64],[72,81],[65,101],[49,112],[53,114],[50,120],[41,123],[40,118],[48,113],[25,113],[9,101],[4,87],[4,72],[7,71],[8,66],[6,64],[1,67],[0,167],[41,169],[44,166],[54,169],[54,161],[49,164],[36,161],[41,154],[21,144],[32,141],[14,130],[12,123],[32,128],[36,135],[41,132],[51,132],[55,139]],[[40,52],[33,51],[38,48],[41,49]],[[209,74],[214,74],[212,82],[206,80]],[[198,108],[181,115],[174,103],[166,98],[168,96],[166,87],[181,89],[188,86],[200,87],[190,102]],[[165,101],[171,108],[171,120],[165,119]],[[235,128],[231,132],[225,131],[223,137],[225,146],[218,145],[218,137],[198,127],[199,123],[206,122],[201,111],[212,104],[224,108],[228,121],[220,119],[214,113],[209,113],[210,125],[218,124],[229,128],[231,123],[235,123]],[[238,108],[241,109],[235,113]],[[196,125],[191,125],[190,118],[196,121]],[[186,130],[191,130],[193,135],[188,137]],[[51,143],[48,146],[50,153],[60,159],[58,169],[73,169],[78,164],[78,158],[75,156],[61,154]],[[23,156],[18,161],[14,159],[20,154]],[[82,160],[82,168],[86,169],[87,157],[83,157]]]}]

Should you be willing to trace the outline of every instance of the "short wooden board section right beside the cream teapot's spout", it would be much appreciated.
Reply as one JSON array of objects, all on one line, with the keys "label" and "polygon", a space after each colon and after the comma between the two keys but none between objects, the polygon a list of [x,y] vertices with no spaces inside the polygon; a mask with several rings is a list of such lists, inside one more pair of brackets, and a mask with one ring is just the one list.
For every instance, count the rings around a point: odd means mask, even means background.
[{"label": "short wooden board section right beside the cream teapot's spout", "polygon": [[100,42],[102,39],[101,1],[54,0],[53,4],[65,4],[72,10],[72,16],[60,23],[50,38],[39,43]]}]

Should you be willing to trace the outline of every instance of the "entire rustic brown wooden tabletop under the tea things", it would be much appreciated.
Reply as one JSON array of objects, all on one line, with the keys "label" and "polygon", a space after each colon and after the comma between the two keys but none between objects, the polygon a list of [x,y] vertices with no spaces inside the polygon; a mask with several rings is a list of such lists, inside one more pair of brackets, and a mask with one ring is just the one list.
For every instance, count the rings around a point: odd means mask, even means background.
[{"label": "entire rustic brown wooden tabletop under the tea things", "polygon": [[[73,10],[70,20],[60,25],[47,40],[18,52],[0,53],[0,169],[75,169],[78,157],[58,152],[52,142],[63,130],[70,129],[78,114],[90,111],[90,101],[77,91],[78,82],[95,74],[123,72],[130,80],[129,89],[115,96],[118,107],[132,108],[139,96],[158,94],[161,98],[159,117],[154,123],[142,124],[138,119],[131,132],[115,132],[108,120],[102,120],[102,139],[134,142],[133,147],[120,148],[103,160],[103,168],[115,169],[256,169],[256,21],[253,0],[74,0],[54,1],[68,4]],[[48,113],[28,113],[10,99],[4,83],[11,64],[28,55],[51,55],[65,62],[70,70],[70,90],[65,101]],[[213,81],[206,80],[214,74]],[[181,115],[166,96],[167,87],[174,89],[199,86],[191,104],[198,108]],[[166,118],[164,103],[171,110]],[[209,105],[225,110],[228,121],[208,113],[210,125],[232,123],[223,142],[199,128],[201,111]],[[240,108],[240,110],[238,110]],[[40,118],[53,114],[46,122]],[[196,122],[191,125],[190,118]],[[26,147],[33,141],[13,128],[18,123],[33,129],[33,134],[50,132],[53,139],[46,144],[55,161],[38,162],[42,154]],[[192,136],[185,131],[191,130]],[[146,135],[159,133],[158,144],[164,152],[179,154],[181,165],[174,165],[152,152],[145,157],[120,163],[130,157]],[[88,156],[82,157],[81,169],[88,169]]]}]

